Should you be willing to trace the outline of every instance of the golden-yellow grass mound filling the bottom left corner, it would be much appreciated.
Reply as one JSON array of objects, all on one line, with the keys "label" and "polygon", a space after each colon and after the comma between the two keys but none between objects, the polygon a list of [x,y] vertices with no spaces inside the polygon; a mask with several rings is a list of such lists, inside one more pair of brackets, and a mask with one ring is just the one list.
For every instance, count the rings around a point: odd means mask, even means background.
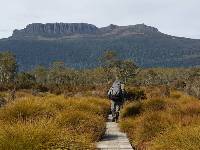
[{"label": "golden-yellow grass mound filling the bottom left corner", "polygon": [[94,149],[84,136],[58,128],[54,122],[18,122],[0,127],[0,149]]}]

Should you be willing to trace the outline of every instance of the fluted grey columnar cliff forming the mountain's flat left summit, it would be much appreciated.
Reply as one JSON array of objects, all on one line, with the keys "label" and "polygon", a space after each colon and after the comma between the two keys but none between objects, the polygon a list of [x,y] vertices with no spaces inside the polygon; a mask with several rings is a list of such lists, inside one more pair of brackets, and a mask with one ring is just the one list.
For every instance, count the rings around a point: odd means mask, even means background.
[{"label": "fluted grey columnar cliff forming the mountain's flat left summit", "polygon": [[14,30],[12,37],[90,34],[95,33],[97,29],[96,26],[86,23],[33,23],[22,30]]}]

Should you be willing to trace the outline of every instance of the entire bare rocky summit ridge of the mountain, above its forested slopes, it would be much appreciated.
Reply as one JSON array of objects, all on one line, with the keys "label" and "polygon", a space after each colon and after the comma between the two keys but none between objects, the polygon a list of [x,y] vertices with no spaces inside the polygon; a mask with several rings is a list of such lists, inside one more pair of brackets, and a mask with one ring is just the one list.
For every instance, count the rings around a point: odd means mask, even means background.
[{"label": "entire bare rocky summit ridge of the mountain, above its forested slopes", "polygon": [[145,24],[131,26],[109,25],[103,28],[97,28],[95,25],[87,23],[33,23],[22,30],[14,30],[12,38],[27,37],[62,37],[71,35],[95,35],[112,36],[127,34],[149,34],[157,33],[158,29]]}]

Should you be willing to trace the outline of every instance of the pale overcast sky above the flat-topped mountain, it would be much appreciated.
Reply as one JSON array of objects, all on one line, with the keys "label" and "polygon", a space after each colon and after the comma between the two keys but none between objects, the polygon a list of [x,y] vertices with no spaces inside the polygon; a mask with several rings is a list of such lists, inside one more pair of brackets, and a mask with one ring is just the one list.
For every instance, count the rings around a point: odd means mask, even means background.
[{"label": "pale overcast sky above the flat-topped mountain", "polygon": [[30,23],[145,23],[161,32],[200,39],[200,0],[0,0],[0,38]]}]

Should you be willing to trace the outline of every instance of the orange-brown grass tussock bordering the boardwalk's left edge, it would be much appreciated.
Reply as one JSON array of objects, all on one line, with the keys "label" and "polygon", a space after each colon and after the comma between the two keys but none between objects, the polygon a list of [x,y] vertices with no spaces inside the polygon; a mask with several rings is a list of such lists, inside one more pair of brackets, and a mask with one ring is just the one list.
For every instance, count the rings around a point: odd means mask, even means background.
[{"label": "orange-brown grass tussock bordering the boardwalk's left edge", "polygon": [[92,141],[99,140],[105,132],[105,118],[84,111],[67,110],[60,113],[56,122],[76,134],[88,135]]}]

